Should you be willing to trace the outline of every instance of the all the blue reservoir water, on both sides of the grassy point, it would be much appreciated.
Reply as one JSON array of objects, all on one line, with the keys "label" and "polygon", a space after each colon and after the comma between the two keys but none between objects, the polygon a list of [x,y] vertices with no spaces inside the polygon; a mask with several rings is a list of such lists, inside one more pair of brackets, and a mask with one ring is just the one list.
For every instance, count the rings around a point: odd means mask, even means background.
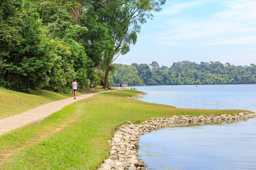
[{"label": "all the blue reservoir water, on both sides of the grassy point", "polygon": [[[137,86],[139,99],[179,108],[256,111],[256,85]],[[148,170],[256,170],[256,119],[169,127],[141,136]]]}]

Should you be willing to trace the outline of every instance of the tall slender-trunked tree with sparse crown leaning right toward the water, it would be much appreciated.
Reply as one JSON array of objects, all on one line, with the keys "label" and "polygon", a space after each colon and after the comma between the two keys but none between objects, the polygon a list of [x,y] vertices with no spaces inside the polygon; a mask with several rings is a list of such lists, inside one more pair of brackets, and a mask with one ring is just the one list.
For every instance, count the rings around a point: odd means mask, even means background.
[{"label": "tall slender-trunked tree with sparse crown leaning right toward the water", "polygon": [[[110,64],[129,51],[129,45],[137,41],[137,33],[152,18],[152,11],[160,11],[165,0],[117,0],[109,1],[103,21],[109,26],[110,46],[103,55],[105,64],[105,87],[108,87]],[[114,59],[115,56],[115,59]]]}]

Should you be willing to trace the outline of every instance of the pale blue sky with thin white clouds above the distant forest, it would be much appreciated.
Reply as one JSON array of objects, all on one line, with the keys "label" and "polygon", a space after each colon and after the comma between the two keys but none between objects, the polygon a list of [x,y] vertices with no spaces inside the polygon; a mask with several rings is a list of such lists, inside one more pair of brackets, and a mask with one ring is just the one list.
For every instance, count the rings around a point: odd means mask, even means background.
[{"label": "pale blue sky with thin white clouds above the distant forest", "polygon": [[166,0],[114,63],[256,64],[256,0]]}]

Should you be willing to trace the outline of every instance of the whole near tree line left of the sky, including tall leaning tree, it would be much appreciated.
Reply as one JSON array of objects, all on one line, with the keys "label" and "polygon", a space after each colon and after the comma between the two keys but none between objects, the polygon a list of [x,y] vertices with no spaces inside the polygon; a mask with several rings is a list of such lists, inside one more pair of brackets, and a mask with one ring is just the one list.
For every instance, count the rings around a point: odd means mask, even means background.
[{"label": "whole near tree line left of the sky, including tall leaning tree", "polygon": [[73,78],[109,88],[112,62],[129,51],[165,0],[0,0],[0,86],[66,92]]}]

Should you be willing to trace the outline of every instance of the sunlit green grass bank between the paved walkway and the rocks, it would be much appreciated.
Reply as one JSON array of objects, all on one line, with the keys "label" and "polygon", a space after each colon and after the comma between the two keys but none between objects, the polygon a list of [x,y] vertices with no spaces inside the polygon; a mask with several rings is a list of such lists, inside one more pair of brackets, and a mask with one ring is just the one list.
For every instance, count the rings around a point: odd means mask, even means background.
[{"label": "sunlit green grass bank between the paved walkway and the rocks", "polygon": [[137,93],[123,90],[97,94],[65,107],[37,125],[0,136],[0,168],[93,170],[108,157],[108,139],[127,120],[139,123],[150,117],[243,111],[179,109],[126,97]]}]

